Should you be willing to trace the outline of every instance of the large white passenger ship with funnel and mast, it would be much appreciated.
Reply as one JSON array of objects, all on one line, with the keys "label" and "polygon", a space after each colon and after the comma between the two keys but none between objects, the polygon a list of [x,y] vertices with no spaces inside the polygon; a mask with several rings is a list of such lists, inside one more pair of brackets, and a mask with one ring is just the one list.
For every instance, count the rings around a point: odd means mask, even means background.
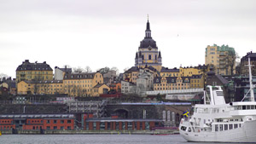
[{"label": "large white passenger ship with funnel and mast", "polygon": [[195,105],[194,114],[181,119],[179,132],[184,139],[197,142],[256,143],[255,85],[248,59],[250,101],[226,104],[220,86],[207,86],[204,104]]}]

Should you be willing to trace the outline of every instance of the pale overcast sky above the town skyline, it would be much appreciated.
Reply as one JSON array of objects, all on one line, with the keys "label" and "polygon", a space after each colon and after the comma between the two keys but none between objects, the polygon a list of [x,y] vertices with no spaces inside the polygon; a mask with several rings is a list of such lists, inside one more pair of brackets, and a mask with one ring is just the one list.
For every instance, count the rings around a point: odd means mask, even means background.
[{"label": "pale overcast sky above the town skyline", "polygon": [[0,74],[15,78],[24,60],[55,66],[134,66],[146,30],[162,66],[198,66],[205,49],[256,49],[254,0],[0,0]]}]

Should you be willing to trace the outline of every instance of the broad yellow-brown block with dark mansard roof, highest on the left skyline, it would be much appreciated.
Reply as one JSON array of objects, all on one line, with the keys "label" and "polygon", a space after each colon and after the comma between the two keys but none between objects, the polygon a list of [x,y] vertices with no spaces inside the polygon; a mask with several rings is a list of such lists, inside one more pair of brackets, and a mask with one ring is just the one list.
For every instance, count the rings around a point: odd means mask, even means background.
[{"label": "broad yellow-brown block with dark mansard roof, highest on the left skyline", "polygon": [[16,69],[16,81],[40,81],[40,80],[52,80],[53,79],[53,70],[46,64],[46,61],[43,63],[31,63],[29,60],[22,62],[20,66]]}]

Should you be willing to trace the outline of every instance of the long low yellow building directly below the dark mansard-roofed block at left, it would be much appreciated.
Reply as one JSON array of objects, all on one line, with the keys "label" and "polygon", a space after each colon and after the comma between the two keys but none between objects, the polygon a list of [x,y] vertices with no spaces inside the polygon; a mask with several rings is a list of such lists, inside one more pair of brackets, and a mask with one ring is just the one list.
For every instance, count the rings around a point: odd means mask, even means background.
[{"label": "long low yellow building directly below the dark mansard-roofed block at left", "polygon": [[63,95],[64,86],[61,80],[21,81],[17,84],[18,95]]}]

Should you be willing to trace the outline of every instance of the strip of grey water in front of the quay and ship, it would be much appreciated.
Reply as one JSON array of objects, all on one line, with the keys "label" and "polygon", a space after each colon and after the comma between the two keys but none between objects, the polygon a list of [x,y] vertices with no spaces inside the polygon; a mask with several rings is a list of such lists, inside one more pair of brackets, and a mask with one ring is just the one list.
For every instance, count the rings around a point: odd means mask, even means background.
[{"label": "strip of grey water in front of the quay and ship", "polygon": [[[191,144],[181,135],[1,135],[2,144]],[[196,142],[193,142],[195,144]],[[201,143],[203,144],[203,143]],[[209,144],[209,143],[207,143]]]}]

